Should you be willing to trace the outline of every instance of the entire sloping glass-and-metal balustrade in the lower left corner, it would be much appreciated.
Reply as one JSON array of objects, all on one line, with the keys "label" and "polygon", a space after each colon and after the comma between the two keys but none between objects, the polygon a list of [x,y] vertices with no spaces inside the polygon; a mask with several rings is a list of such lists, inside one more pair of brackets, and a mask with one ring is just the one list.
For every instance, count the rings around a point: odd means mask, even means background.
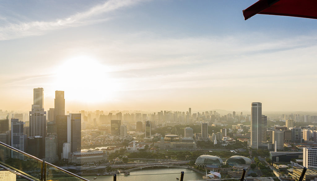
[{"label": "entire sloping glass-and-metal balustrade in the lower left corner", "polygon": [[[31,181],[89,181],[2,142],[0,167],[17,175],[16,180],[23,178]],[[4,172],[0,172],[0,178],[5,177],[1,173]]]}]

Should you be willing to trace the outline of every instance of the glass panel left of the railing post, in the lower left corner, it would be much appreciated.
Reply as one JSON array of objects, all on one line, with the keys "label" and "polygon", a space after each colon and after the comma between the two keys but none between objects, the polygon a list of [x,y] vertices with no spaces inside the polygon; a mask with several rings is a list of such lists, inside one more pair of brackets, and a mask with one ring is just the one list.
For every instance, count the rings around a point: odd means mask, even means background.
[{"label": "glass panel left of the railing post, in the lower left corner", "polygon": [[36,181],[41,179],[42,161],[0,145],[0,164]]}]

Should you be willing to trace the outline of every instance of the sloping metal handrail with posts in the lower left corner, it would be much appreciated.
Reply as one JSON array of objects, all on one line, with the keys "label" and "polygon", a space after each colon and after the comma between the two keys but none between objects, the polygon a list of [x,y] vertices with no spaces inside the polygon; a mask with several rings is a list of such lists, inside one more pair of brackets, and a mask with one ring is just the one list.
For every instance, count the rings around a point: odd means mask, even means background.
[{"label": "sloping metal handrail with posts in the lower left corner", "polygon": [[[36,181],[36,180],[46,181],[46,180],[47,180],[47,179],[46,179],[46,178],[47,178],[47,167],[54,168],[54,169],[56,169],[57,171],[61,171],[62,173],[66,174],[66,175],[68,175],[68,176],[77,178],[77,179],[79,179],[79,180],[89,181],[89,180],[87,180],[86,178],[82,178],[82,177],[80,177],[80,176],[78,176],[78,175],[76,175],[76,174],[74,174],[74,173],[72,173],[72,172],[66,171],[66,170],[64,170],[64,169],[62,169],[62,168],[60,168],[60,167],[58,167],[58,166],[55,166],[55,165],[50,164],[50,163],[48,163],[48,162],[46,162],[46,161],[43,161],[43,160],[41,160],[41,159],[39,159],[39,158],[36,158],[35,156],[32,156],[32,155],[30,155],[30,154],[28,154],[28,153],[22,152],[22,151],[20,151],[20,150],[14,148],[14,147],[12,147],[12,146],[10,146],[10,145],[7,145],[7,144],[4,144],[4,143],[0,142],[0,146],[4,146],[5,148],[8,148],[7,151],[17,152],[17,153],[22,154],[22,155],[24,155],[25,157],[29,158],[29,160],[30,160],[30,159],[33,159],[33,160],[31,160],[31,161],[36,161],[36,162],[38,162],[38,163],[41,164],[40,177],[39,177],[39,178],[36,178],[36,177],[34,177],[34,176],[32,176],[32,175],[30,175],[30,174],[24,172],[23,170],[19,170],[18,168],[14,168],[14,166],[12,166],[12,165],[10,166],[9,164],[6,164],[6,163],[0,161],[0,167],[1,167],[1,168],[5,169],[5,170],[7,170],[7,171],[10,171],[10,172],[12,172],[12,173],[14,173],[14,174],[16,174],[16,175],[18,175],[18,176],[20,176],[20,177],[22,177],[22,178],[25,178],[25,179],[27,179],[27,180],[29,180],[29,181]],[[2,148],[2,151],[3,151],[3,148]],[[4,150],[4,151],[5,151],[5,150]],[[0,155],[0,156],[1,156],[1,155]],[[3,164],[3,165],[2,165],[2,164]]]}]

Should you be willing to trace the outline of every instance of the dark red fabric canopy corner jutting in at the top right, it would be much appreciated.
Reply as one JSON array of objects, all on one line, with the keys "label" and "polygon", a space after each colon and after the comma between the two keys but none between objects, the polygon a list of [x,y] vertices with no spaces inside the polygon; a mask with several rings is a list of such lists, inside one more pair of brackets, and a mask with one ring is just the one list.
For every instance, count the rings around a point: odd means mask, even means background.
[{"label": "dark red fabric canopy corner jutting in at the top right", "polygon": [[243,10],[245,20],[256,14],[317,19],[317,0],[259,0]]}]

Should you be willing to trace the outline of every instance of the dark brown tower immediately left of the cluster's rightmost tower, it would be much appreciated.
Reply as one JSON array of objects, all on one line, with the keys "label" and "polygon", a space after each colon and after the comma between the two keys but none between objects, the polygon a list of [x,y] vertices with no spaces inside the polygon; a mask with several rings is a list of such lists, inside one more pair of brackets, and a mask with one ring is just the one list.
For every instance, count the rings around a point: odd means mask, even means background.
[{"label": "dark brown tower immediately left of the cluster's rightmost tower", "polygon": [[56,135],[57,135],[57,155],[61,159],[61,154],[63,152],[63,143],[67,143],[68,135],[68,124],[67,115],[57,115],[55,117],[56,121]]}]

